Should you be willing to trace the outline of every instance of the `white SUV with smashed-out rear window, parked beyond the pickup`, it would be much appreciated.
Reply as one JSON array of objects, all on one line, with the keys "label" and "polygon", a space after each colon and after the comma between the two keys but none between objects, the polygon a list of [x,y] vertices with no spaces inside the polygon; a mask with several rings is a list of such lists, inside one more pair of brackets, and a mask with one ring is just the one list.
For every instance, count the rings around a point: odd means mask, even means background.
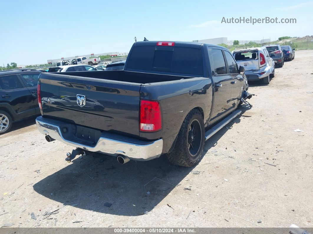
[{"label": "white SUV with smashed-out rear window, parked beyond the pickup", "polygon": [[234,50],[232,53],[237,64],[244,67],[248,81],[262,80],[269,84],[270,78],[275,76],[275,62],[265,47]]}]

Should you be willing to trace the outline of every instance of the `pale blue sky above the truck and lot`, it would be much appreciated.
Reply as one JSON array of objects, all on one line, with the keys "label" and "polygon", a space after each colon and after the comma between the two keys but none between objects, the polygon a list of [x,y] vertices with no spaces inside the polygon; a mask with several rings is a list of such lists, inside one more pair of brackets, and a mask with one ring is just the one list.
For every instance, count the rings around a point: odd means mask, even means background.
[{"label": "pale blue sky above the truck and lot", "polygon": [[[239,3],[240,2],[240,3]],[[260,7],[263,5],[264,7]],[[313,1],[2,1],[0,63],[46,63],[128,52],[143,40],[277,39],[313,34]],[[221,24],[223,17],[296,18],[296,24]]]}]

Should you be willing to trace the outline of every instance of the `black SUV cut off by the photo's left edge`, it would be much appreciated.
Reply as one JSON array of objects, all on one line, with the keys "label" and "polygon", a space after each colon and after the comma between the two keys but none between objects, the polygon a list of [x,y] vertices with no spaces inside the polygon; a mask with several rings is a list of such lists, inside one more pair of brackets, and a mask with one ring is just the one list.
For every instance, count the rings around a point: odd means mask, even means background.
[{"label": "black SUV cut off by the photo's left edge", "polygon": [[0,72],[0,135],[10,131],[13,121],[40,115],[37,99],[40,73],[33,69]]}]

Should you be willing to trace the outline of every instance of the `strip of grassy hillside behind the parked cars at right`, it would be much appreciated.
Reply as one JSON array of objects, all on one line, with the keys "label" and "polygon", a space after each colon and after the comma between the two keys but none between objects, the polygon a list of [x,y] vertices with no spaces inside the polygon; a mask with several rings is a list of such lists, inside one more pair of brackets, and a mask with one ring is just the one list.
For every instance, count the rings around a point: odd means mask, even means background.
[{"label": "strip of grassy hillside behind the parked cars at right", "polygon": [[272,41],[266,43],[247,43],[244,45],[231,45],[226,46],[226,48],[230,51],[239,50],[239,49],[246,49],[246,48],[253,48],[253,47],[261,47],[263,45],[270,45],[270,44],[279,44],[281,46],[291,46],[295,48],[295,50],[312,50],[313,49],[313,37],[301,37],[301,38],[290,38],[284,39],[281,41]]}]

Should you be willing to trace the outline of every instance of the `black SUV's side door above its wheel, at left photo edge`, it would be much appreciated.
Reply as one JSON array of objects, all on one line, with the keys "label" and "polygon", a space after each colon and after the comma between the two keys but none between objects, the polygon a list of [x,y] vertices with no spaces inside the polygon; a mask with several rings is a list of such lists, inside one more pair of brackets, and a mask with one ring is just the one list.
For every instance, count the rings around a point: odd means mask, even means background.
[{"label": "black SUV's side door above its wheel, at left photo edge", "polygon": [[18,75],[0,76],[0,102],[16,115],[16,119],[36,113],[33,96]]}]

